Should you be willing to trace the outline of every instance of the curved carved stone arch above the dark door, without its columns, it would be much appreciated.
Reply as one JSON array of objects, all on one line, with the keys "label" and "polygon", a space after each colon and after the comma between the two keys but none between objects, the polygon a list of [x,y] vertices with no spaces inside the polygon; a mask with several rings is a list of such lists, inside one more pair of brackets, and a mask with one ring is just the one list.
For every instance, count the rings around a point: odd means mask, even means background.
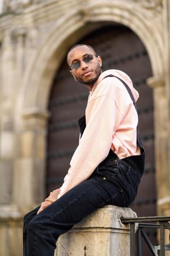
[{"label": "curved carved stone arch above the dark door, without its columns", "polygon": [[[133,19],[133,20],[132,20]],[[124,1],[99,1],[82,10],[70,11],[54,25],[41,44],[37,55],[29,65],[23,79],[22,102],[24,113],[45,111],[50,85],[67,50],[83,35],[103,22],[116,22],[129,27],[141,38],[150,56],[152,71],[156,76],[163,73],[163,36],[158,26],[153,27],[141,6]],[[32,91],[35,93],[32,94]],[[31,97],[30,97],[31,96]]]}]

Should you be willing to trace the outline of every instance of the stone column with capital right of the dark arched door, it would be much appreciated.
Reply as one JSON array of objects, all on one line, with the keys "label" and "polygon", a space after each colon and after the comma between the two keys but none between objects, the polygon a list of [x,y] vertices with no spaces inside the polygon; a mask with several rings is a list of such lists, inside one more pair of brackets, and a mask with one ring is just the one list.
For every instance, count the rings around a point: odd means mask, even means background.
[{"label": "stone column with capital right of the dark arched door", "polygon": [[[156,188],[157,210],[159,216],[166,215],[165,205],[170,202],[168,147],[169,147],[169,119],[168,97],[163,77],[150,77],[147,84],[154,93],[154,127],[155,127],[155,164],[156,164]],[[168,206],[169,207],[169,206]]]}]

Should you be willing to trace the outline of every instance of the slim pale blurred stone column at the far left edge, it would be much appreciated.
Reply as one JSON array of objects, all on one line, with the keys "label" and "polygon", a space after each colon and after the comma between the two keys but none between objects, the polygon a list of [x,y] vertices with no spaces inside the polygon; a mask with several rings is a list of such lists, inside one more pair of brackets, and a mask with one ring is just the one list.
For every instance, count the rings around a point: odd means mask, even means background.
[{"label": "slim pale blurred stone column at the far left edge", "polygon": [[[10,32],[4,34],[1,47],[0,88],[0,209],[12,204],[12,167],[15,155],[14,89],[15,60]],[[7,210],[8,211],[8,210]]]}]

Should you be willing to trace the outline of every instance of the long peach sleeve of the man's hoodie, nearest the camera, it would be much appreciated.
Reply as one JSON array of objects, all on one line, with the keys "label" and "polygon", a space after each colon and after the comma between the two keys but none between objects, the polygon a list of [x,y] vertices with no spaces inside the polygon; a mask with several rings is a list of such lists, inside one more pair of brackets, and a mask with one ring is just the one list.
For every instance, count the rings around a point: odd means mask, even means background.
[{"label": "long peach sleeve of the man's hoodie, nearest the camera", "polygon": [[92,104],[91,115],[70,162],[58,198],[84,180],[107,157],[112,139],[123,115],[116,102],[107,94],[97,97]]}]

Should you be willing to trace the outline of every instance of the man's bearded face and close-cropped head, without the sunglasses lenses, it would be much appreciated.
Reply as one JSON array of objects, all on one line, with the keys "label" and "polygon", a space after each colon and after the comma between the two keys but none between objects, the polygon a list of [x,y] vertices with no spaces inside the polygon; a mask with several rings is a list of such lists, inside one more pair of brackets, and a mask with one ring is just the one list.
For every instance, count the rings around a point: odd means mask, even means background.
[{"label": "man's bearded face and close-cropped head, without the sunglasses lenses", "polygon": [[[83,58],[88,55],[92,55],[93,59],[86,63]],[[87,46],[74,48],[69,52],[67,60],[69,66],[77,61],[80,64],[78,68],[71,69],[70,72],[81,84],[93,85],[101,74],[101,57],[96,56],[96,53]]]}]

